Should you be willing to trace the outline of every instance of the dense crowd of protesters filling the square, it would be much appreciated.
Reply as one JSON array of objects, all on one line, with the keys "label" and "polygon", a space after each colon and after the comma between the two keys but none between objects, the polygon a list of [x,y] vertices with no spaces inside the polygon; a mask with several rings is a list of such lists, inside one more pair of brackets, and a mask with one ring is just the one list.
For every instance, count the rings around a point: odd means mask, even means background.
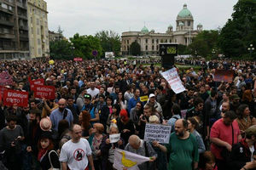
[{"label": "dense crowd of protesters filling the square", "polygon": [[[154,64],[0,61],[6,88],[29,93],[24,107],[0,101],[0,169],[111,170],[116,148],[150,157],[140,170],[256,169],[256,62],[177,62],[201,65],[177,68],[180,94]],[[234,71],[233,82],[214,82],[216,69]],[[29,78],[55,86],[55,99],[34,98]],[[144,141],[147,123],[171,126],[169,143]]]}]

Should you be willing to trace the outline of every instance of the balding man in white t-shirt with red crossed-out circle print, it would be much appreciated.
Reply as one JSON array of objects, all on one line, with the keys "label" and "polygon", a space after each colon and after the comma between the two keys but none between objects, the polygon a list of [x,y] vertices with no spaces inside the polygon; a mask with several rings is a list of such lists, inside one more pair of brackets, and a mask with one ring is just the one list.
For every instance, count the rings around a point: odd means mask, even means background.
[{"label": "balding man in white t-shirt with red crossed-out circle print", "polygon": [[60,161],[62,170],[67,167],[72,170],[95,170],[93,159],[91,156],[90,144],[87,139],[81,139],[82,128],[78,124],[74,124],[72,128],[72,139],[68,140],[61,148]]}]

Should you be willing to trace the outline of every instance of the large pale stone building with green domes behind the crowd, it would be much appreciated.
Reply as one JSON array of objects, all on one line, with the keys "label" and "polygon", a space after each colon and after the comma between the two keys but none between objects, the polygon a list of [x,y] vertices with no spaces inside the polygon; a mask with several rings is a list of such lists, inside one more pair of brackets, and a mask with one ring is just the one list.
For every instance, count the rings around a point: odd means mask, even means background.
[{"label": "large pale stone building with green domes behind the crowd", "polygon": [[183,9],[177,14],[176,31],[173,31],[172,25],[167,27],[166,33],[148,31],[146,26],[141,31],[125,31],[122,33],[121,52],[123,55],[131,54],[131,43],[138,42],[142,55],[158,55],[160,42],[177,42],[188,46],[200,31],[202,25],[198,24],[194,30],[193,15],[187,4],[184,4]]}]

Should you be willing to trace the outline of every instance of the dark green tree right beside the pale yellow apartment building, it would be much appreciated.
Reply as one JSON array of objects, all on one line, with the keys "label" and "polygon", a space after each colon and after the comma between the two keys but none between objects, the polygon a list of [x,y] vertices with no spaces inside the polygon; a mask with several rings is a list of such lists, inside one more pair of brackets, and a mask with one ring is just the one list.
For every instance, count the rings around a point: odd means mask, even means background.
[{"label": "dark green tree right beside the pale yellow apartment building", "polygon": [[53,59],[73,59],[71,43],[67,40],[49,42],[49,56]]}]

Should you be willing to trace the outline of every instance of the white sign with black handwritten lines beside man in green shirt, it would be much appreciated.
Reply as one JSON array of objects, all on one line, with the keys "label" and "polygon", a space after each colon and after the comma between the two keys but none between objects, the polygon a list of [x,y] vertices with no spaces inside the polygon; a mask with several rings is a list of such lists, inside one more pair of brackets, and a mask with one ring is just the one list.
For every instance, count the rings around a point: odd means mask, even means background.
[{"label": "white sign with black handwritten lines beside man in green shirt", "polygon": [[147,123],[144,133],[144,141],[152,142],[156,140],[159,143],[168,144],[171,130],[171,126]]}]

